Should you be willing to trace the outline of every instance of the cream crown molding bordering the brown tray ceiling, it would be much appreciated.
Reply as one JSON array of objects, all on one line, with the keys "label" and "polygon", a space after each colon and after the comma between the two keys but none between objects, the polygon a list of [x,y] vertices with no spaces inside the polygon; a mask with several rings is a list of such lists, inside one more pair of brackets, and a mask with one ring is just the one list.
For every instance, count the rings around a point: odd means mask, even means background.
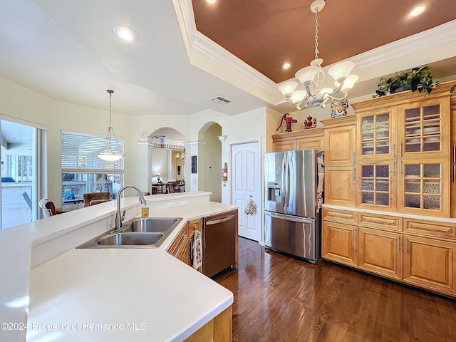
[{"label": "cream crown molding bordering the brown tray ceiling", "polygon": [[[191,0],[172,2],[193,66],[273,105],[284,103],[283,96],[276,88],[278,83],[197,31]],[[354,72],[359,76],[358,82],[367,81],[410,68],[409,64],[415,60],[426,64],[454,56],[451,51],[456,47],[456,36],[449,32],[455,31],[456,19],[347,59],[356,63]],[[323,70],[327,73],[331,66],[325,66]]]}]

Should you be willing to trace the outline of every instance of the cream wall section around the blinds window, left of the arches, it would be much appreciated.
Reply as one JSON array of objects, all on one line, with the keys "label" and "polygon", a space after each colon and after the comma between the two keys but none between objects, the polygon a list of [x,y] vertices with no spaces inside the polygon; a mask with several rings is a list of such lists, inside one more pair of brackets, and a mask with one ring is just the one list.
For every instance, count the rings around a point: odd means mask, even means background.
[{"label": "cream wall section around the blinds window, left of the arches", "polygon": [[[100,96],[103,94],[100,94]],[[107,105],[108,108],[108,100]],[[5,120],[24,123],[47,131],[48,198],[61,204],[61,130],[105,135],[109,109],[63,103],[0,78],[0,115]],[[134,117],[112,112],[115,135],[125,140],[125,184],[132,184],[134,163],[131,127]]]}]

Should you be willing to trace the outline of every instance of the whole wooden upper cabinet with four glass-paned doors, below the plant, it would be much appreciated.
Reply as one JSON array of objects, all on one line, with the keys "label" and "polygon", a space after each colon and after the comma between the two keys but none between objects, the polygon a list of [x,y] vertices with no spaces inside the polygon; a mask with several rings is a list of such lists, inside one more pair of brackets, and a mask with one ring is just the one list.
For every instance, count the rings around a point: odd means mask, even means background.
[{"label": "whole wooden upper cabinet with four glass-paned doors, below the plant", "polygon": [[358,207],[450,216],[450,94],[455,84],[442,83],[426,97],[410,91],[352,104]]}]

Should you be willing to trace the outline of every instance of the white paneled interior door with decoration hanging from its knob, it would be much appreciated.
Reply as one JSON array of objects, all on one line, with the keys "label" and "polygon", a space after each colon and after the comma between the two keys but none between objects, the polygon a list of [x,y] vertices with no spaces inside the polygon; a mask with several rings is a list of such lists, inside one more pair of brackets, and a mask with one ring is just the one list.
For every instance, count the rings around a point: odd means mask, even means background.
[{"label": "white paneled interior door with decoration hanging from its knob", "polygon": [[[232,204],[239,207],[239,236],[259,241],[261,236],[261,157],[259,142],[232,145]],[[245,214],[247,202],[257,204],[255,214]]]}]

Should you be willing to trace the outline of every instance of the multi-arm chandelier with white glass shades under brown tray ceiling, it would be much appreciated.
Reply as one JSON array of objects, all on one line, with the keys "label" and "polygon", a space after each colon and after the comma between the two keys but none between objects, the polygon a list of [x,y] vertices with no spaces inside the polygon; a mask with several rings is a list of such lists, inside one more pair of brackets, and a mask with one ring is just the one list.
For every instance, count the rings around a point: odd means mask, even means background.
[{"label": "multi-arm chandelier with white glass shades under brown tray ceiling", "polygon": [[[323,68],[321,68],[323,59],[318,58],[318,13],[324,6],[324,0],[315,0],[310,7],[311,11],[315,14],[315,59],[314,61],[311,61],[310,66],[302,68],[295,74],[305,90],[296,90],[296,87],[298,86],[298,82],[296,81],[286,81],[277,86],[285,96],[286,101],[296,105],[298,110],[306,108],[309,103],[315,108],[324,108],[326,102],[330,98],[332,100],[343,100],[347,98],[348,92],[358,80],[358,76],[350,74],[353,68],[355,68],[355,63],[343,61],[336,63],[328,71],[329,75],[335,80],[334,86],[336,86],[336,88],[323,88],[325,72],[323,71]],[[333,96],[337,93],[341,93],[343,96]]]}]

